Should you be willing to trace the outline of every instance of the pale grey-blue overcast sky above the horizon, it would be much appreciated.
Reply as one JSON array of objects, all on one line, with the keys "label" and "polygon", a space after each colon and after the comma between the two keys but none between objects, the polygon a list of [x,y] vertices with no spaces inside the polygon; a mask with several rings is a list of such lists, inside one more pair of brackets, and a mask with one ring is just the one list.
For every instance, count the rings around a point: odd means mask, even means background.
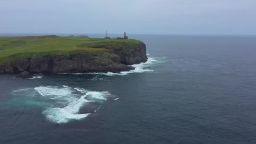
[{"label": "pale grey-blue overcast sky above the horizon", "polygon": [[256,0],[0,0],[0,33],[256,35]]}]

